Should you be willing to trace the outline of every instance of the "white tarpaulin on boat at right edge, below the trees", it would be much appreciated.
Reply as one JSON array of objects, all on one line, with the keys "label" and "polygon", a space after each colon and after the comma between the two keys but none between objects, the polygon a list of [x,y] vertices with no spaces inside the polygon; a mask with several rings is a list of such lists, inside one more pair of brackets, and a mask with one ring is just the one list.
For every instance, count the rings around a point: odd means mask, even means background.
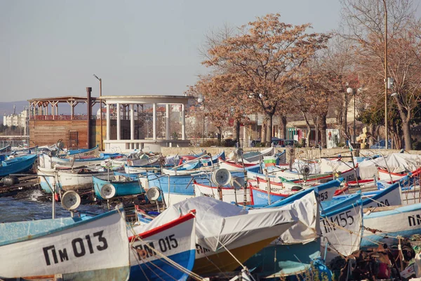
[{"label": "white tarpaulin on boat at right edge, below the trees", "polygon": [[421,166],[421,155],[393,153],[386,157],[365,160],[359,163],[361,179],[377,177],[377,166],[388,169],[391,173],[415,171]]}]

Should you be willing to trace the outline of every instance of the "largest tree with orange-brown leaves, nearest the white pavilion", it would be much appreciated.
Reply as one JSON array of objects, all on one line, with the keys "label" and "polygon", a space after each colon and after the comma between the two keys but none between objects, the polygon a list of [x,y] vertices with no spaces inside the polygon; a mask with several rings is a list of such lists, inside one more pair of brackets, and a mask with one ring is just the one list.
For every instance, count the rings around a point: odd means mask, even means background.
[{"label": "largest tree with orange-brown leaves, nearest the white pavilion", "polygon": [[316,51],[326,48],[328,35],[307,33],[311,27],[281,22],[279,14],[257,18],[239,28],[238,33],[218,41],[208,49],[203,65],[214,70],[216,88],[210,100],[221,99],[237,105],[241,113],[246,108],[260,108],[268,119],[266,140],[272,139],[272,117],[280,106],[300,87],[296,78],[300,69]]}]

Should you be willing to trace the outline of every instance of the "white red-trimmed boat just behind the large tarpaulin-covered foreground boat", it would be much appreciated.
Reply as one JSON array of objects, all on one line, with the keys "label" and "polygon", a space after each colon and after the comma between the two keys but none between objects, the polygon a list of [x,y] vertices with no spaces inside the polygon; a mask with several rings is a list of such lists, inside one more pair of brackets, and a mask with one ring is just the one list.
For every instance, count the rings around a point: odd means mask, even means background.
[{"label": "white red-trimmed boat just behind the large tarpaulin-covered foreground boat", "polygon": [[250,204],[250,190],[244,188],[235,189],[232,186],[218,188],[216,186],[204,185],[201,183],[194,183],[194,196],[208,196],[227,203],[243,204],[244,192],[246,192],[247,204]]}]

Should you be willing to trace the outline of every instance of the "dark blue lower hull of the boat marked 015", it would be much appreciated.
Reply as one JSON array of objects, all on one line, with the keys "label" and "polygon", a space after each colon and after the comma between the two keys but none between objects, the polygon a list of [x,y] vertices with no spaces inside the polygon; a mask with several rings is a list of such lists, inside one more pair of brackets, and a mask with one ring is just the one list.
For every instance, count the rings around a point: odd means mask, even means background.
[{"label": "dark blue lower hull of the boat marked 015", "polygon": [[[195,250],[183,251],[182,253],[168,256],[178,263],[183,268],[192,270],[194,266]],[[130,270],[129,280],[187,280],[189,275],[181,272],[168,264],[168,261],[163,259],[156,259],[149,263],[142,263],[139,265],[132,265]]]}]

